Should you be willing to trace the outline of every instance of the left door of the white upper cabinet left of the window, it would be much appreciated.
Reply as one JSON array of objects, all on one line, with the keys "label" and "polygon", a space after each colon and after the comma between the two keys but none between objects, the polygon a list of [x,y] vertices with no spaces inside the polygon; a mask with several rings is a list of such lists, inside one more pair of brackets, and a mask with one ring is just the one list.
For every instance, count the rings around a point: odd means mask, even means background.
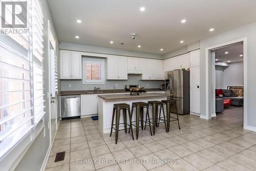
[{"label": "left door of the white upper cabinet left of the window", "polygon": [[71,51],[60,50],[60,79],[71,79]]}]

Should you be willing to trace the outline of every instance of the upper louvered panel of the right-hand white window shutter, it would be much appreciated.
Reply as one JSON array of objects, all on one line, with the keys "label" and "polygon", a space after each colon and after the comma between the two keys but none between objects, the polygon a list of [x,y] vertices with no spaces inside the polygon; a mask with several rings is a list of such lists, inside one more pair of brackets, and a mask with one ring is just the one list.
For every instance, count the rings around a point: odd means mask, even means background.
[{"label": "upper louvered panel of the right-hand white window shutter", "polygon": [[44,16],[42,15],[41,4],[38,0],[32,0],[32,35],[33,35],[33,55],[40,61],[44,59]]}]

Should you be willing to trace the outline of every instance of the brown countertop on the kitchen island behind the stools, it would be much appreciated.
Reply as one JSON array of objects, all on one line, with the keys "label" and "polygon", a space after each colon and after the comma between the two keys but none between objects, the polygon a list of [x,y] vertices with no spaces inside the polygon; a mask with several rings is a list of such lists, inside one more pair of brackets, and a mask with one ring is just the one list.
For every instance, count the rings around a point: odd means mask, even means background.
[{"label": "brown countertop on the kitchen island behind the stools", "polygon": [[141,93],[139,95],[130,95],[130,94],[109,94],[109,95],[98,95],[99,98],[105,100],[111,99],[126,99],[126,98],[146,98],[146,97],[163,97],[170,96],[166,93]]}]

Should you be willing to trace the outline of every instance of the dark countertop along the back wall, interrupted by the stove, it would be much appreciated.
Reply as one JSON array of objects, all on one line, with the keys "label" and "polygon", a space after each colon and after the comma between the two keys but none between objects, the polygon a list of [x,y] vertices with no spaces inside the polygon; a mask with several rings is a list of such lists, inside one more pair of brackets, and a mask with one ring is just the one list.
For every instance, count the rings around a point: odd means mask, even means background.
[{"label": "dark countertop along the back wall, interrupted by the stove", "polygon": [[[156,92],[156,91],[165,91],[161,89],[143,89],[147,92]],[[75,91],[61,91],[60,95],[83,95],[83,94],[109,94],[109,93],[129,93],[129,91],[125,91],[124,89],[118,90],[97,90],[96,93],[93,93],[93,90],[75,90]]]}]

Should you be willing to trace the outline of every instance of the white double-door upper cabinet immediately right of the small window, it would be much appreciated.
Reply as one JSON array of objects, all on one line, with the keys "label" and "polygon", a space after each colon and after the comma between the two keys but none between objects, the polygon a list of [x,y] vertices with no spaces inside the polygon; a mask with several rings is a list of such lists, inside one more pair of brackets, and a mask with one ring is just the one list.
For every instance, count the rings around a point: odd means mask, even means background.
[{"label": "white double-door upper cabinet immediately right of the small window", "polygon": [[127,79],[127,57],[108,57],[107,73],[107,79]]}]

